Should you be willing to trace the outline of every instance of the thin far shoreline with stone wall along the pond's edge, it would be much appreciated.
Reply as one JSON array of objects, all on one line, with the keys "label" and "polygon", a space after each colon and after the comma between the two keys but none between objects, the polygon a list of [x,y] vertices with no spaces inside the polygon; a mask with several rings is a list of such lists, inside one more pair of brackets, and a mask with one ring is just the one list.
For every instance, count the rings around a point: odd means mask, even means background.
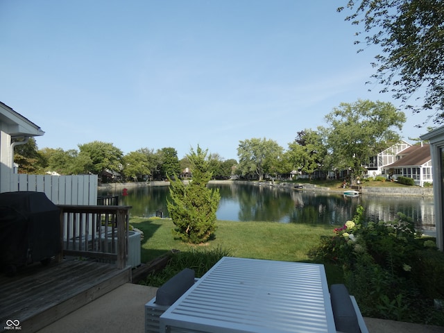
[{"label": "thin far shoreline with stone wall along the pond's edge", "polygon": [[[188,182],[189,180],[184,180]],[[319,191],[330,193],[342,193],[345,189],[332,189],[330,187],[319,187],[312,184],[300,184],[294,182],[273,182],[273,181],[245,181],[245,180],[210,180],[210,184],[246,184],[246,185],[260,185],[277,187],[280,189],[289,189],[293,191]],[[152,181],[152,182],[115,182],[102,184],[97,187],[99,190],[115,190],[115,189],[129,189],[135,187],[157,187],[169,186],[169,181]],[[300,187],[299,187],[300,186]],[[359,191],[363,195],[370,196],[418,196],[418,197],[433,197],[433,187],[359,187]]]}]

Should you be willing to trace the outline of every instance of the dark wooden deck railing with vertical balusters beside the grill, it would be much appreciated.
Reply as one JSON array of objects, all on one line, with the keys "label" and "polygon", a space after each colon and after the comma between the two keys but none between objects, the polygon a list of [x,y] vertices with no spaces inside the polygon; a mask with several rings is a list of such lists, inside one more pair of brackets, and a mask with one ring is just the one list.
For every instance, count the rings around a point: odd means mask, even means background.
[{"label": "dark wooden deck railing with vertical balusters beside the grill", "polygon": [[128,257],[130,206],[57,205],[60,209],[64,255],[116,262]]}]

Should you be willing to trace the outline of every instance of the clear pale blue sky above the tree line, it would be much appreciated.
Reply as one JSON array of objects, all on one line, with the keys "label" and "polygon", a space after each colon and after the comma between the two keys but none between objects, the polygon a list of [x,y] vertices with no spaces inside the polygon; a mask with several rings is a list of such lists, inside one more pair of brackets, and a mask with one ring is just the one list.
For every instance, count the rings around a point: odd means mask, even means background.
[{"label": "clear pale blue sky above the tree line", "polygon": [[[0,101],[44,130],[38,148],[287,149],[341,102],[398,106],[368,92],[378,50],[357,53],[346,2],[1,0]],[[404,139],[427,132],[406,115]]]}]

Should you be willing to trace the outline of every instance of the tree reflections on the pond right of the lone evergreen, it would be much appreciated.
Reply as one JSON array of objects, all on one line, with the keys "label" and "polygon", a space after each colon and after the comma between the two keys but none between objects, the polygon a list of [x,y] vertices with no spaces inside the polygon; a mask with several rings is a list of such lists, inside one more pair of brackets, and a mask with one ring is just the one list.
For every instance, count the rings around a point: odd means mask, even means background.
[{"label": "tree reflections on the pond right of the lone evergreen", "polygon": [[352,219],[358,205],[363,205],[367,221],[394,221],[396,214],[402,212],[411,217],[417,227],[434,228],[432,198],[350,198],[342,194],[282,190],[266,185],[232,184],[218,187],[222,200],[238,201],[239,221],[341,225]]}]

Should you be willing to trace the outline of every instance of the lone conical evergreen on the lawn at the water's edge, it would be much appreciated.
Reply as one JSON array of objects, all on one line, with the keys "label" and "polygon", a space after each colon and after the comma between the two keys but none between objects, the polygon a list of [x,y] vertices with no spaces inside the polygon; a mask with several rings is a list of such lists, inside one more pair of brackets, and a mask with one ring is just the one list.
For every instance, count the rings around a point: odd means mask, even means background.
[{"label": "lone conical evergreen on the lawn at the water's edge", "polygon": [[189,185],[180,179],[170,179],[171,200],[167,208],[176,228],[173,234],[183,241],[200,244],[216,230],[216,211],[221,196],[219,189],[209,189],[207,183],[212,178],[207,151],[200,146],[196,151],[191,148],[187,155],[193,175]]}]

